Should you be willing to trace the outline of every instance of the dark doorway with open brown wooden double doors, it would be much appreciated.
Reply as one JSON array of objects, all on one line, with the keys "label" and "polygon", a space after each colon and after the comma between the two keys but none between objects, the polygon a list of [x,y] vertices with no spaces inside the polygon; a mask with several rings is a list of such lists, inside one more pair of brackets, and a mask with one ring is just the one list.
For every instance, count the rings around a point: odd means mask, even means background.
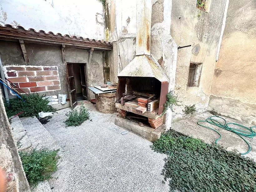
[{"label": "dark doorway with open brown wooden double doors", "polygon": [[77,101],[88,100],[86,63],[66,62],[66,73],[70,105],[73,109],[77,105]]}]

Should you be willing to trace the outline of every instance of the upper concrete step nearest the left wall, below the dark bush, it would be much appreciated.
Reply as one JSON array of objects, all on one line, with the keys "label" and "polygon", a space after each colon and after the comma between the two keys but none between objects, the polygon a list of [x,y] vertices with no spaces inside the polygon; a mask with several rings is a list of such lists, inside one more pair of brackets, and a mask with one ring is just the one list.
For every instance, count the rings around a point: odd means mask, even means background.
[{"label": "upper concrete step nearest the left wall, below the dark bush", "polygon": [[17,144],[18,151],[22,150],[31,150],[32,145],[30,140],[28,139],[27,132],[25,131],[19,117],[14,117],[11,120],[12,134],[14,142]]}]

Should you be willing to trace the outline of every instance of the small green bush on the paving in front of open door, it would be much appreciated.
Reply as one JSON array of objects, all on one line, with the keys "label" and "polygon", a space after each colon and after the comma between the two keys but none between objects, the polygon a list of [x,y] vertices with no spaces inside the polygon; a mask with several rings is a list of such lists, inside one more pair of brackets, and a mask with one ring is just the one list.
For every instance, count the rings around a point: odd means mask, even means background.
[{"label": "small green bush on the paving in front of open door", "polygon": [[85,106],[82,104],[80,106],[80,111],[78,112],[77,109],[73,109],[68,114],[68,119],[65,122],[66,126],[79,126],[84,121],[89,119],[89,111],[85,108]]}]

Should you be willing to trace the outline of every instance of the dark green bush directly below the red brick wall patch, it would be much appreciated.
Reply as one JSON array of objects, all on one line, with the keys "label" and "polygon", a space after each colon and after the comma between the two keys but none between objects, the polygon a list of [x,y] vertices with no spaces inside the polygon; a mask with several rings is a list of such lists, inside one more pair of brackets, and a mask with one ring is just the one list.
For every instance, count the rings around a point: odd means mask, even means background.
[{"label": "dark green bush directly below the red brick wall patch", "polygon": [[38,117],[38,113],[43,112],[52,112],[54,108],[52,106],[47,105],[49,103],[48,100],[42,99],[43,95],[40,96],[36,94],[22,95],[22,99],[15,98],[10,99],[9,102],[5,101],[5,111],[7,113],[8,118],[18,114],[21,111],[24,111],[20,117],[27,116],[36,116]]}]

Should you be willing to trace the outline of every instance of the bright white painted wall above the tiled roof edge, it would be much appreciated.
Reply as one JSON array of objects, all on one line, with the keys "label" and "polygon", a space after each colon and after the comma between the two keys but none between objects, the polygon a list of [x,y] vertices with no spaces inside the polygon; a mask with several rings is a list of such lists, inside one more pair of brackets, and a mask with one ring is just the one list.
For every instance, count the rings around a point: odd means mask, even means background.
[{"label": "bright white painted wall above the tiled roof edge", "polygon": [[104,39],[100,0],[1,0],[0,25]]}]

